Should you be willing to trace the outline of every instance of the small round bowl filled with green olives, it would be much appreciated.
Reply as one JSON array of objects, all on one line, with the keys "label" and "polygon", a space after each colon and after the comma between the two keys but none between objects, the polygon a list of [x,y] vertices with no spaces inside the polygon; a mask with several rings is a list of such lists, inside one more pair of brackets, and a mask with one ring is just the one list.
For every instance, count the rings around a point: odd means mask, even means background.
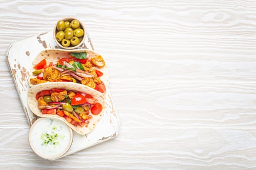
[{"label": "small round bowl filled with green olives", "polygon": [[54,27],[53,37],[62,49],[72,50],[80,47],[85,40],[83,24],[74,17],[60,19]]}]

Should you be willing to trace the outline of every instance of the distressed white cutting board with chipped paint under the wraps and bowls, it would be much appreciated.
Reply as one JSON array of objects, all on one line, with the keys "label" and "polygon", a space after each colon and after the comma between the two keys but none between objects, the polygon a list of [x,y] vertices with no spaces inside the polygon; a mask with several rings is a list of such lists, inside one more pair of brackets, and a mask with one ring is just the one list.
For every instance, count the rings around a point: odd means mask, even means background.
[{"label": "distressed white cutting board with chipped paint under the wraps and bowls", "polygon": [[[29,69],[32,66],[32,61],[40,51],[56,48],[59,47],[53,39],[53,32],[50,31],[12,43],[7,51],[7,63],[30,126],[38,117],[31,112],[27,103],[28,81],[30,77]],[[94,50],[88,34],[86,34],[86,39],[81,48]],[[104,142],[118,135],[120,121],[108,89],[105,102],[106,107],[105,110],[103,110],[102,119],[96,128],[91,133],[84,136],[74,132],[71,148],[64,156]]]}]

